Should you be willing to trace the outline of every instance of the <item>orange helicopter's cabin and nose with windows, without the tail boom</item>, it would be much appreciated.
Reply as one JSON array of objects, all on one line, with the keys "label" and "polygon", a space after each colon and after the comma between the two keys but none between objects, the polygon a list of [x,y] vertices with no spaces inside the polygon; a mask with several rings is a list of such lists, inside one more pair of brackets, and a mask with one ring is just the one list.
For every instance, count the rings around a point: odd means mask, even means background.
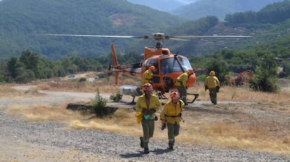
[{"label": "orange helicopter's cabin and nose with windows, without the tail boom", "polygon": [[[145,47],[144,59],[141,64],[141,73],[149,66],[155,66],[153,72],[153,89],[168,92],[176,88],[174,83],[179,75],[191,68],[188,59],[178,54],[172,54],[168,48]],[[195,73],[190,75],[186,82],[187,87],[192,87],[196,82]]]}]

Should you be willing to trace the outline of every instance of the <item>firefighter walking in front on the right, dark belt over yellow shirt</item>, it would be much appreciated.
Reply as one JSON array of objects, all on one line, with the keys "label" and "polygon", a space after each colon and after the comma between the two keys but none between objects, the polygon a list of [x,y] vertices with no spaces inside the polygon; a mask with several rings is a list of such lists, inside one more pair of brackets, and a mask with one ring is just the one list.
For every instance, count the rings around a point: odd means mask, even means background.
[{"label": "firefighter walking in front on the right, dark belt over yellow shirt", "polygon": [[172,91],[170,94],[171,101],[165,104],[160,113],[160,120],[162,121],[162,128],[167,124],[168,130],[168,145],[169,149],[173,149],[174,137],[179,135],[179,123],[181,121],[181,112],[184,110],[184,101],[179,99],[179,93]]}]

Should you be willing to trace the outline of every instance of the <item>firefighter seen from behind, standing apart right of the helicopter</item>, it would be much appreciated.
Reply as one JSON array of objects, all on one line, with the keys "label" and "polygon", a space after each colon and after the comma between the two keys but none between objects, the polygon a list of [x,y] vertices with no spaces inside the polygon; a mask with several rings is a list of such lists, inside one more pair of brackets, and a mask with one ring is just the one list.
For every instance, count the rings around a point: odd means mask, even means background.
[{"label": "firefighter seen from behind, standing apart right of the helicopter", "polygon": [[205,91],[209,89],[210,101],[216,105],[216,93],[219,92],[220,88],[219,79],[216,78],[216,72],[210,71],[209,76],[205,79]]}]

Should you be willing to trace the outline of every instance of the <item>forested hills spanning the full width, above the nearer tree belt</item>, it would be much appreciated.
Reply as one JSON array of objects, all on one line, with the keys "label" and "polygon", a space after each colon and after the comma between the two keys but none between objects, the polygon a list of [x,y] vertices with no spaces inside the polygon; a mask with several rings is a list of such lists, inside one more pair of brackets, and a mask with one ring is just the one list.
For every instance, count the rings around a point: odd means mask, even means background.
[{"label": "forested hills spanning the full width, above the nearer tree belt", "polygon": [[[27,0],[25,3],[19,0],[1,1],[0,9],[3,14],[0,15],[0,36],[3,39],[0,40],[0,56],[9,59],[12,55],[19,56],[23,50],[29,49],[45,54],[48,59],[59,59],[63,56],[96,57],[109,54],[111,43],[116,44],[118,53],[141,52],[144,46],[155,45],[155,41],[149,40],[50,37],[43,36],[43,33],[150,35],[156,31],[163,31],[165,34],[175,36],[213,34],[254,36],[247,39],[164,41],[165,47],[170,47],[172,52],[186,56],[212,54],[225,47],[232,50],[265,47],[272,41],[280,43],[279,49],[284,49],[285,41],[289,38],[289,21],[287,21],[290,15],[289,1],[274,3],[256,13],[251,12],[264,15],[264,18],[259,18],[264,20],[263,22],[237,22],[244,20],[237,15],[254,17],[245,12],[228,15],[230,19],[223,23],[214,16],[186,22],[179,17],[172,17],[150,8],[136,7],[126,1],[121,2],[88,1],[88,4],[84,4],[78,0],[70,3],[48,0]],[[267,19],[271,15],[275,15],[274,18]],[[280,38],[284,39],[279,40]]]}]

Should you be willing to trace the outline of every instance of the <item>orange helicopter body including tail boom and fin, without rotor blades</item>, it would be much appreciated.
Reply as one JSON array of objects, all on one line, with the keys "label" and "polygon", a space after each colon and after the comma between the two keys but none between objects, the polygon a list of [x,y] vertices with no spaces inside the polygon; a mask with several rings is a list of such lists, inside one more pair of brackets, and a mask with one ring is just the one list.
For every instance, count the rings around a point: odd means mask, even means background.
[{"label": "orange helicopter body including tail boom and fin, without rotor blades", "polygon": [[[113,51],[113,68],[116,74],[116,84],[118,72],[134,78],[141,79],[142,74],[150,67],[155,66],[156,71],[153,72],[153,89],[161,92],[168,92],[174,89],[175,82],[179,75],[191,68],[188,59],[178,54],[172,54],[167,48],[145,47],[143,61],[137,64],[118,65],[116,60],[116,52]],[[195,73],[189,76],[186,82],[187,87],[192,87],[196,82]]]}]

